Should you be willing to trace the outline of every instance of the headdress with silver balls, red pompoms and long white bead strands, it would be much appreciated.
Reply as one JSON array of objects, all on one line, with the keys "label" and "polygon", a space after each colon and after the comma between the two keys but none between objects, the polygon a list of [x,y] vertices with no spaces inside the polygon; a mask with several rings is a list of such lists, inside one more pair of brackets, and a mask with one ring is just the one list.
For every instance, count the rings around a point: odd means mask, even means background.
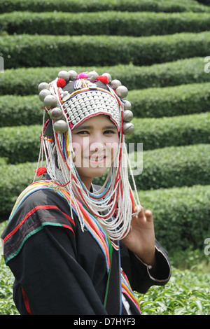
[{"label": "headdress with silver balls, red pompoms and long white bead strands", "polygon": [[[99,76],[95,71],[78,74],[71,70],[60,71],[51,83],[41,83],[38,91],[44,103],[38,167],[44,153],[46,171],[57,186],[69,191],[82,230],[83,216],[78,199],[97,218],[111,240],[122,239],[130,230],[134,205],[140,206],[124,141],[124,135],[134,130],[130,123],[133,117],[131,104],[123,100],[127,97],[127,87],[119,80],[112,80],[109,73]],[[46,123],[45,112],[49,116]],[[71,130],[99,114],[106,114],[115,123],[119,147],[102,188],[90,191],[80,180],[73,164]],[[134,192],[128,179],[128,166]]]}]

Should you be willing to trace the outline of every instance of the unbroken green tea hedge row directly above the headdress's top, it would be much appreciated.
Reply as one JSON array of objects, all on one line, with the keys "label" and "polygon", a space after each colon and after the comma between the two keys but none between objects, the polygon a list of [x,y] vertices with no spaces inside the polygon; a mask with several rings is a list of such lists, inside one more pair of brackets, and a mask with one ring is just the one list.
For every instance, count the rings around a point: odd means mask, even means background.
[{"label": "unbroken green tea hedge row directly above the headdress's top", "polygon": [[[207,56],[210,32],[167,36],[0,36],[5,69],[29,66],[152,65]],[[53,53],[53,56],[52,56]],[[141,54],[141,56],[140,56]]]}]

